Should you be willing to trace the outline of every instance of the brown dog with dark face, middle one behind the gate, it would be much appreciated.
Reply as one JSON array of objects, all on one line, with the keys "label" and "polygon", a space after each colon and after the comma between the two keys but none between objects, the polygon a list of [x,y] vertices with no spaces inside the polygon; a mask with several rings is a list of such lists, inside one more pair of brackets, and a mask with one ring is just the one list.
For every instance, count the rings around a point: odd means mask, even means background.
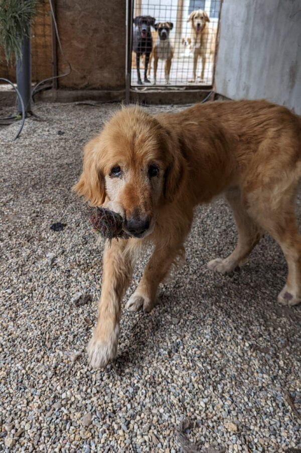
[{"label": "brown dog with dark face, middle one behind the gate", "polygon": [[[158,61],[165,60],[165,80],[166,83],[169,84],[170,80],[170,72],[171,72],[171,65],[172,59],[174,56],[173,46],[170,42],[170,32],[173,29],[174,24],[172,22],[158,22],[155,24],[155,30],[158,32],[157,42],[153,47],[152,54],[149,58],[149,63],[154,58],[154,84],[156,85],[157,82],[157,68],[158,68]],[[150,65],[149,65],[149,72],[148,76],[150,75]]]}]

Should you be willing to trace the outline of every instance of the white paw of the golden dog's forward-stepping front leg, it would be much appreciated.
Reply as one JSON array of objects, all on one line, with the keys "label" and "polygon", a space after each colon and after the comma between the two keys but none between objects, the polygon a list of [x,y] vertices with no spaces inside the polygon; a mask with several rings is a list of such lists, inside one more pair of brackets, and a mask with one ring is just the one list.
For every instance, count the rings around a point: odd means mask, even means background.
[{"label": "white paw of the golden dog's forward-stepping front leg", "polygon": [[109,338],[104,341],[95,331],[87,347],[88,362],[92,368],[103,368],[116,357],[118,348],[119,326],[115,327]]}]

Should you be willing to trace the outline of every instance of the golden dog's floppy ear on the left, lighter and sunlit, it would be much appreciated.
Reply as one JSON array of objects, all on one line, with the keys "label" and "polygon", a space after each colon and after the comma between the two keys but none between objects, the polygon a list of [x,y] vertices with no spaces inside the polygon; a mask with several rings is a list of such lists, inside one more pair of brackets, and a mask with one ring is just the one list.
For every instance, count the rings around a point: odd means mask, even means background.
[{"label": "golden dog's floppy ear on the left, lighter and sunlit", "polygon": [[85,146],[83,171],[73,190],[90,201],[92,206],[101,206],[105,199],[104,177],[97,167],[96,156],[100,152],[99,138],[96,137]]}]

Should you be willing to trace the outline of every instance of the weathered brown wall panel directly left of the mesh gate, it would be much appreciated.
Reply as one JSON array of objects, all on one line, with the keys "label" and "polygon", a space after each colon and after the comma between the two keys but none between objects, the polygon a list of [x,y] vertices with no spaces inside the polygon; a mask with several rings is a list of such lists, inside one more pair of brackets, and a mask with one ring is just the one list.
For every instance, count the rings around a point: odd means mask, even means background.
[{"label": "weathered brown wall panel directly left of the mesh gate", "polygon": [[[56,0],[62,47],[72,66],[59,87],[118,90],[125,85],[125,1]],[[59,73],[68,66],[58,49]]]}]

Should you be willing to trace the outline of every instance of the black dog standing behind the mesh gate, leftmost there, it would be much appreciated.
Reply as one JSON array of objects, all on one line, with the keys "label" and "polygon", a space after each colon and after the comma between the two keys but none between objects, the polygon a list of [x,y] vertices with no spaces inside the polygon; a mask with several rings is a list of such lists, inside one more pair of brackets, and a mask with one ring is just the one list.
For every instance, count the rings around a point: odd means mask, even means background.
[{"label": "black dog standing behind the mesh gate, leftmost there", "polygon": [[151,16],[137,16],[134,19],[133,51],[136,53],[136,68],[138,85],[142,85],[140,76],[140,57],[145,55],[144,83],[150,83],[147,79],[147,66],[149,55],[153,49],[153,38],[150,27],[155,27],[156,19]]}]

